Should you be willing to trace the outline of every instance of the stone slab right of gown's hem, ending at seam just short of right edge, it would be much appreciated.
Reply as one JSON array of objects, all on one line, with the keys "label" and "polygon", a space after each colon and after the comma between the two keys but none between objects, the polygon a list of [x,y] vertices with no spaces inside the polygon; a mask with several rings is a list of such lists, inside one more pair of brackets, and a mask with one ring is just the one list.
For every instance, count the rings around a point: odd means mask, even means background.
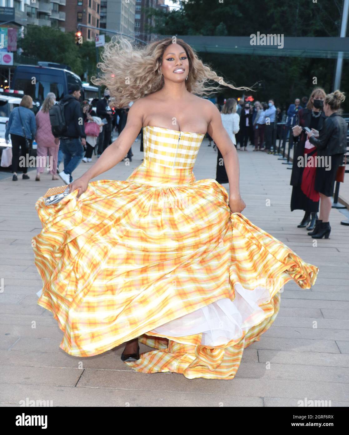
[{"label": "stone slab right of gown's hem, ending at seam just short of right edge", "polygon": [[253,349],[292,350],[294,352],[328,352],[339,353],[335,341],[311,340],[305,338],[273,338],[263,334],[260,341],[255,341]]}]

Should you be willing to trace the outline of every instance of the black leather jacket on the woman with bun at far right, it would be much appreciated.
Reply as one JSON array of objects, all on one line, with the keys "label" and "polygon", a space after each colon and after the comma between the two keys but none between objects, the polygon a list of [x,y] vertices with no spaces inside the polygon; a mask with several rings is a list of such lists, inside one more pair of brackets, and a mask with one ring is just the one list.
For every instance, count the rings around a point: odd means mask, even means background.
[{"label": "black leather jacket on the woman with bun at far right", "polygon": [[348,124],[336,112],[325,119],[319,137],[309,138],[309,142],[317,147],[319,156],[332,156],[346,153],[346,135]]}]

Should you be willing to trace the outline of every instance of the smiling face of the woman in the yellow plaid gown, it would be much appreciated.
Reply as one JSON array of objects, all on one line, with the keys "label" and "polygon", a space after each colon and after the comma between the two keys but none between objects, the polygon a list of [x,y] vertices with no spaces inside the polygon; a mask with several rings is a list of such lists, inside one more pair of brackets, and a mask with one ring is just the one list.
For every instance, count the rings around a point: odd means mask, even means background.
[{"label": "smiling face of the woman in the yellow plaid gown", "polygon": [[184,48],[179,44],[170,44],[163,56],[161,72],[164,79],[181,83],[189,74],[189,60]]}]

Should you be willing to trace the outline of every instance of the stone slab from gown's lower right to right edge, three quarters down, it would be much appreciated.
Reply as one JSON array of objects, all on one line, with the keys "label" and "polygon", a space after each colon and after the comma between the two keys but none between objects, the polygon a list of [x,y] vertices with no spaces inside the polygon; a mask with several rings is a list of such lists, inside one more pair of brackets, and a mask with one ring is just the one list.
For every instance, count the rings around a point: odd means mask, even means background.
[{"label": "stone slab from gown's lower right to right edge, three quarters down", "polygon": [[[269,328],[264,337],[279,338],[309,338],[314,340],[332,340],[346,341],[349,340],[349,331],[344,329],[320,329],[320,328],[300,328],[294,326],[277,326]],[[262,338],[261,338],[262,340]]]}]

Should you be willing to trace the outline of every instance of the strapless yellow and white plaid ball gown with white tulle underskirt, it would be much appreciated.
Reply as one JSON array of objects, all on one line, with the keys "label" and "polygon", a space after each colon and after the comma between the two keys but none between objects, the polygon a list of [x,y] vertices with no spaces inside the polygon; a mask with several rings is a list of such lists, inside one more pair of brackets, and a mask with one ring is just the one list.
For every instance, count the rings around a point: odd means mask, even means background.
[{"label": "strapless yellow and white plaid ball gown with white tulle underskirt", "polygon": [[196,181],[204,134],[147,126],[144,161],[126,181],[92,181],[36,210],[38,304],[69,355],[139,336],[154,350],[130,367],[186,378],[234,378],[244,348],[270,328],[283,284],[310,288],[319,269],[231,213],[226,189]]}]

